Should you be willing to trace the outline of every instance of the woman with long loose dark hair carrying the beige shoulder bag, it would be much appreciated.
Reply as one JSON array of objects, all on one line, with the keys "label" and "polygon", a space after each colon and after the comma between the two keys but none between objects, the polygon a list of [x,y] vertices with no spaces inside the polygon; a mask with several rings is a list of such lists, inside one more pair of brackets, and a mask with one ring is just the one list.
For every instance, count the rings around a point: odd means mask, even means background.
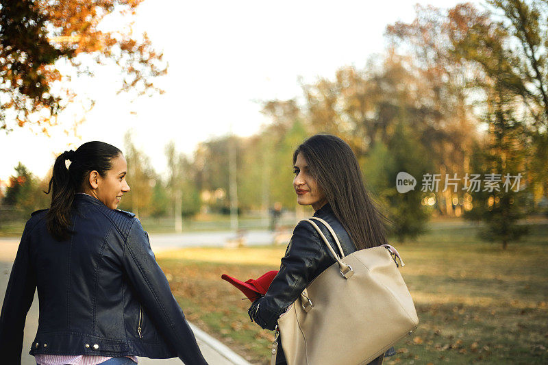
[{"label": "woman with long loose dark hair carrying the beige shoulder bag", "polygon": [[[369,197],[356,156],[345,141],[336,136],[312,136],[295,150],[293,165],[297,203],[311,205],[314,216],[329,223],[345,255],[388,243],[383,225],[388,219]],[[323,228],[331,242],[332,236]],[[312,225],[299,223],[269,290],[249,307],[251,320],[264,329],[275,329],[286,308],[335,262]],[[283,340],[279,343],[283,347]],[[371,364],[382,364],[384,355]],[[393,349],[386,355],[393,355]],[[286,364],[283,348],[278,347],[276,364]]]}]

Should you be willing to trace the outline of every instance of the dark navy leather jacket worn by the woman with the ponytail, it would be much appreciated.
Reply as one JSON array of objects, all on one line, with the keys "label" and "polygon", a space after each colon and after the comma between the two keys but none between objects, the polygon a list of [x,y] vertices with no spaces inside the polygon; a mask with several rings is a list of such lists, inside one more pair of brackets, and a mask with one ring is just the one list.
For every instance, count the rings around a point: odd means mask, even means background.
[{"label": "dark navy leather jacket worn by the woman with the ponytail", "polygon": [[134,214],[75,196],[73,232],[58,242],[46,211],[27,222],[0,316],[2,364],[21,364],[25,317],[38,288],[30,354],[179,357],[207,364]]}]

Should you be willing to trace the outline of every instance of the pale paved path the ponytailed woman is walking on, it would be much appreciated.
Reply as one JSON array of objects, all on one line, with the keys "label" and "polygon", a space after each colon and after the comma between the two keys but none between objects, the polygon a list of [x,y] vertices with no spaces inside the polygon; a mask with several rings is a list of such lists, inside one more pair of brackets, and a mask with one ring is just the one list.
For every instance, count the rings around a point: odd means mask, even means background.
[{"label": "pale paved path the ponytailed woman is walking on", "polygon": [[[15,252],[18,245],[18,239],[2,239],[0,240],[0,299],[3,303],[5,288],[8,286],[8,279],[12,268],[12,260],[15,257]],[[245,361],[242,357],[238,356],[224,344],[215,340],[207,333],[201,331],[195,325],[190,323],[192,330],[195,332],[199,347],[206,357],[206,360],[211,365],[249,365],[249,362]],[[35,294],[32,306],[27,314],[27,321],[25,323],[25,334],[23,338],[23,356],[21,359],[21,365],[36,365],[34,357],[29,355],[28,351],[36,330],[38,329],[38,294]],[[182,364],[181,360],[175,359],[149,359],[147,357],[139,357],[140,365],[175,365]],[[190,365],[190,364],[188,364]]]}]

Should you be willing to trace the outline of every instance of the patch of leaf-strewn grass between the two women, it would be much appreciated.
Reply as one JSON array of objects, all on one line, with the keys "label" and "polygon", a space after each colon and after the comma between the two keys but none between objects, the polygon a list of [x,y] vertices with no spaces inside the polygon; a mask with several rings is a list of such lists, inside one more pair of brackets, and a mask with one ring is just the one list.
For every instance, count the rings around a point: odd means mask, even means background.
[{"label": "patch of leaf-strewn grass between the two women", "polygon": [[275,266],[172,259],[160,259],[159,262],[188,320],[250,362],[264,363],[273,336],[249,321],[247,308],[250,302],[243,301],[243,294],[222,280],[221,275],[226,273],[247,279],[275,270]]}]

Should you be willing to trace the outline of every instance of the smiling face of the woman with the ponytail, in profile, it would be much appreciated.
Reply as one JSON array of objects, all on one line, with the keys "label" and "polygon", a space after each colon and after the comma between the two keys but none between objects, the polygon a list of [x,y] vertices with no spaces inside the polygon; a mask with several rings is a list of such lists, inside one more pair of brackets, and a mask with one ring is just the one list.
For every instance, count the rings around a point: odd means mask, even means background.
[{"label": "smiling face of the woman with the ponytail, in profile", "polygon": [[[112,159],[112,168],[107,171],[103,177],[92,171],[90,173],[90,183],[93,187],[93,195],[110,209],[116,209],[120,203],[122,195],[129,191],[129,185],[125,181],[127,174],[127,162],[122,154]],[[95,181],[91,181],[91,180]]]}]

